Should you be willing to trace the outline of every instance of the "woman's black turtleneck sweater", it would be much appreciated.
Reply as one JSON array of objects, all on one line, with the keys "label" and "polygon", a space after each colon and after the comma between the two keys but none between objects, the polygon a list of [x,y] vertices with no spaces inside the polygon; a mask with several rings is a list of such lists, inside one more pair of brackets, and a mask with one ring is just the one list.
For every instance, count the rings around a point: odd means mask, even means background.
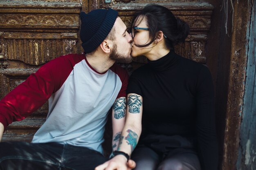
[{"label": "woman's black turtleneck sweater", "polygon": [[213,82],[209,69],[170,51],[132,73],[128,93],[143,97],[142,133],[194,138],[202,170],[217,170]]}]

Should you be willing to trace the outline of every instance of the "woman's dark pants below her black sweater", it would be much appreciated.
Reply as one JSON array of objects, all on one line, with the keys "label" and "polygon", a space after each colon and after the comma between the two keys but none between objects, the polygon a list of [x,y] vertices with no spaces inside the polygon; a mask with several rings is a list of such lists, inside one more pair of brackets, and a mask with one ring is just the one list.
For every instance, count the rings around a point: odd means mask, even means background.
[{"label": "woman's dark pants below her black sweater", "polygon": [[151,135],[132,152],[134,170],[201,170],[193,143],[181,136]]}]

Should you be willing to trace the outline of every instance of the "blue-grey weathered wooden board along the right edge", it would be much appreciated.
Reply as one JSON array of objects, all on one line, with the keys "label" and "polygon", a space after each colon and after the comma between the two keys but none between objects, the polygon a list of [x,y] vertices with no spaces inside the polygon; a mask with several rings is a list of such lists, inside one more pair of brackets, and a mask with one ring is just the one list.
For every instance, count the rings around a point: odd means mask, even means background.
[{"label": "blue-grey weathered wooden board along the right edge", "polygon": [[[254,0],[254,4],[256,0]],[[254,18],[254,20],[252,20]],[[237,170],[256,170],[256,13],[252,13],[247,51],[245,96],[243,101]]]}]

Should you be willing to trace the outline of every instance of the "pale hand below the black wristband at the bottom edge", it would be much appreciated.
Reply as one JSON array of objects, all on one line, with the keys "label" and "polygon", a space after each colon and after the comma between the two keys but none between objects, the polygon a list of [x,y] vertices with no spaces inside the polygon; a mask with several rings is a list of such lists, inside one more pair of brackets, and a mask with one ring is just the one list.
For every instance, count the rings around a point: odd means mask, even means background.
[{"label": "pale hand below the black wristband at the bottom edge", "polygon": [[106,161],[105,163],[97,166],[95,170],[132,170],[135,168],[136,163],[131,159],[126,162],[126,157],[124,155],[117,155]]}]

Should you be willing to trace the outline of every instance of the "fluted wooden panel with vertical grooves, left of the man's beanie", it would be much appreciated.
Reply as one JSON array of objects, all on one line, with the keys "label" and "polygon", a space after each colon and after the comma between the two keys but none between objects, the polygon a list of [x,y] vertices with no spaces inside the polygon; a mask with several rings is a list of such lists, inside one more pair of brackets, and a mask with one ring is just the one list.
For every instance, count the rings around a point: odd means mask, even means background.
[{"label": "fluted wooden panel with vertical grooves, left of the man's beanie", "polygon": [[1,37],[3,40],[0,59],[41,65],[59,55],[77,53],[77,33],[2,32]]}]

